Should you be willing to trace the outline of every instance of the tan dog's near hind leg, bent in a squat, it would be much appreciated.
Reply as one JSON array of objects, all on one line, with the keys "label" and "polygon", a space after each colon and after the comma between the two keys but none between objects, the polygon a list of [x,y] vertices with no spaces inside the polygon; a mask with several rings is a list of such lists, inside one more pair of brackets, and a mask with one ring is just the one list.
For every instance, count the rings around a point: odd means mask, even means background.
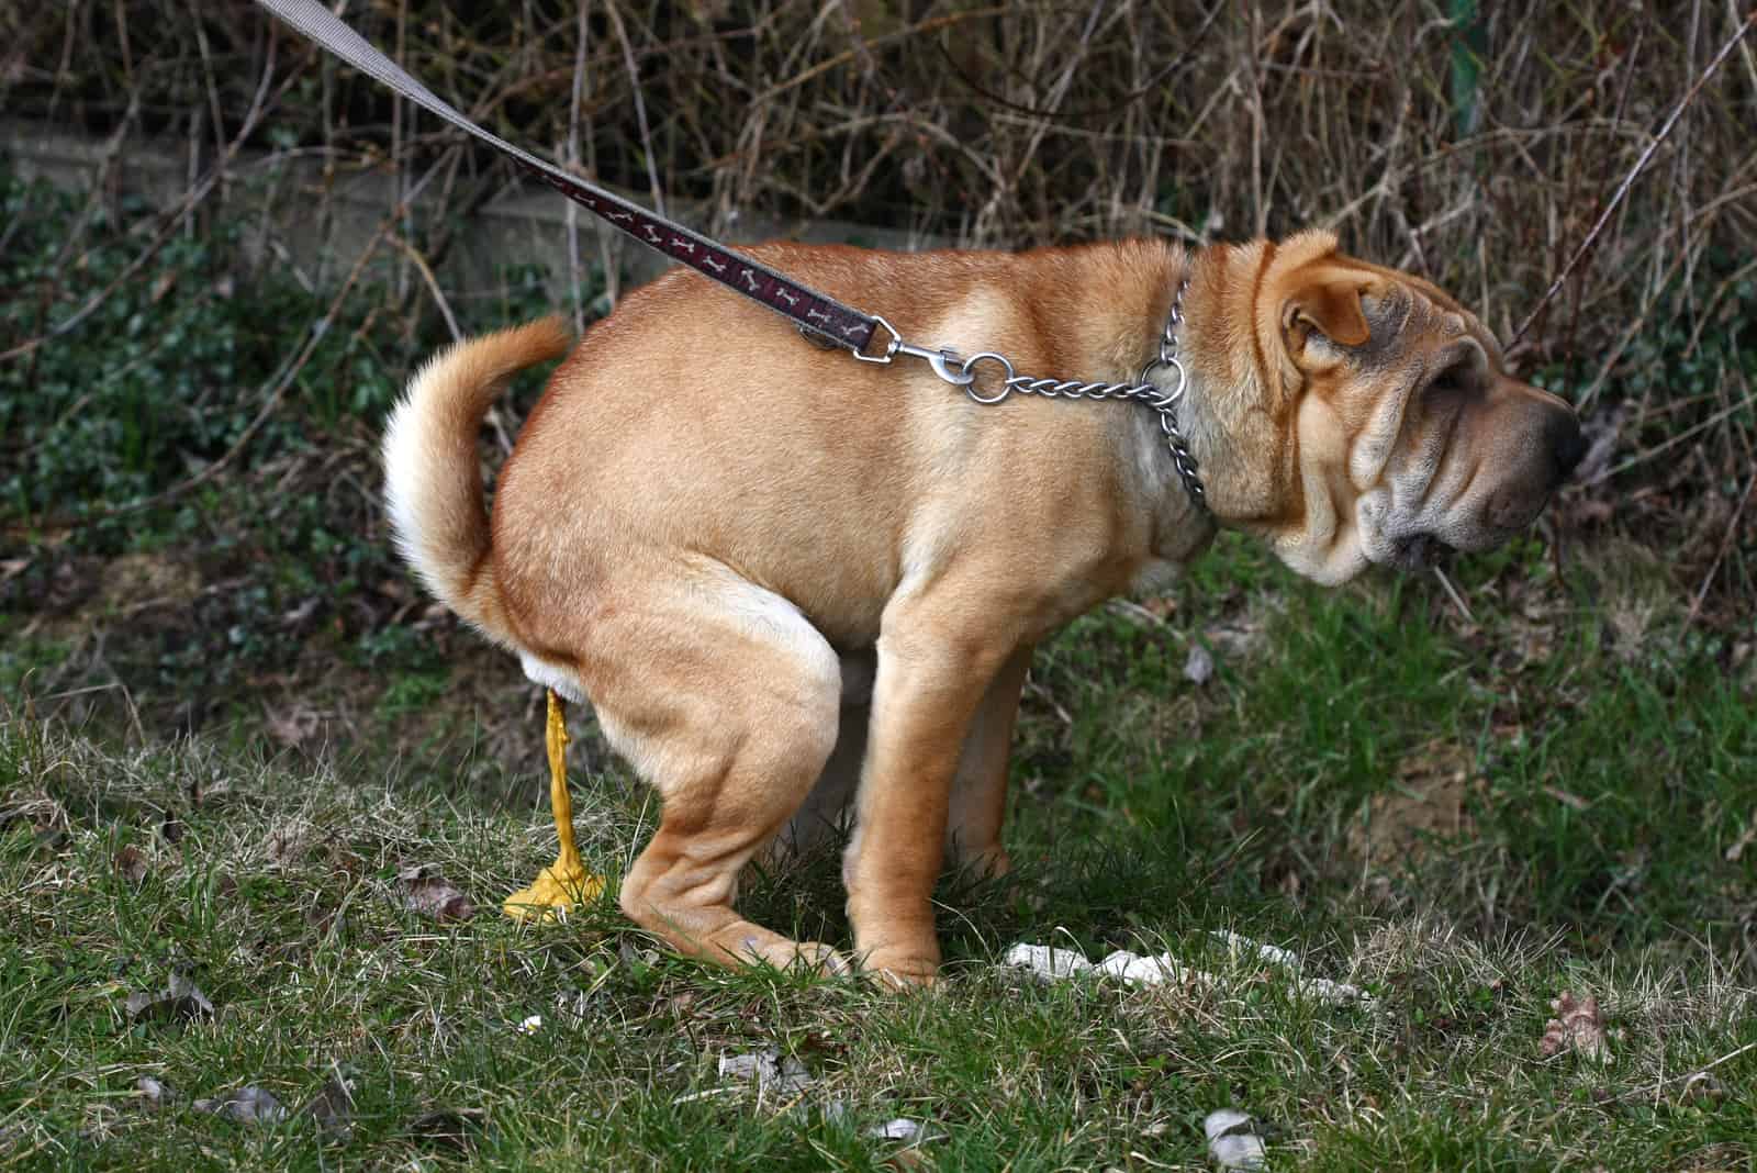
[{"label": "tan dog's near hind leg, bent in a squat", "polygon": [[[657,569],[657,567],[655,567]],[[836,653],[799,611],[719,564],[664,567],[597,608],[580,657],[610,743],[664,801],[622,910],[722,964],[845,969],[733,911],[738,873],[805,801],[836,743]]]}]

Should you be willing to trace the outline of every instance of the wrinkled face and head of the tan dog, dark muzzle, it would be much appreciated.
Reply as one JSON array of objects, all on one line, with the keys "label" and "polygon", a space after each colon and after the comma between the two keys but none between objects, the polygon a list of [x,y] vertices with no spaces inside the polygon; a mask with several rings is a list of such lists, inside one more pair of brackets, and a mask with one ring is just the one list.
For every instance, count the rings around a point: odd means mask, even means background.
[{"label": "wrinkled face and head of the tan dog, dark muzzle", "polygon": [[1520,383],[1428,283],[1330,255],[1283,284],[1302,522],[1272,537],[1325,583],[1416,569],[1530,525],[1585,451],[1573,409]]}]

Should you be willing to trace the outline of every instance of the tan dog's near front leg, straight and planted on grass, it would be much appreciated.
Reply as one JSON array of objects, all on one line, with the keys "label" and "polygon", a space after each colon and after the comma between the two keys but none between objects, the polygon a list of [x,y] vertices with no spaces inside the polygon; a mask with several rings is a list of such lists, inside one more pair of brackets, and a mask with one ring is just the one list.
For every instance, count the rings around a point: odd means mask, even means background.
[{"label": "tan dog's near front leg, straight and planted on grass", "polygon": [[970,595],[898,599],[878,637],[878,680],[854,839],[843,859],[861,964],[898,985],[940,966],[933,885],[945,862],[947,810],[972,716],[1014,646]]}]

